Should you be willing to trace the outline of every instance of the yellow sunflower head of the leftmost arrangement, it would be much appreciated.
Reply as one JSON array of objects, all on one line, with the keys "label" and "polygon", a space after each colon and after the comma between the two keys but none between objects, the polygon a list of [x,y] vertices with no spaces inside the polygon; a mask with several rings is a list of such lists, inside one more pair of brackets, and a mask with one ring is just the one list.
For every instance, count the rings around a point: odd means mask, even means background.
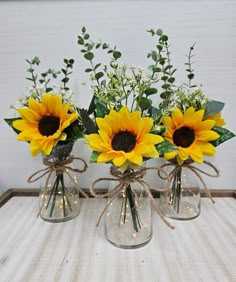
[{"label": "yellow sunflower head of the leftmost arrangement", "polygon": [[20,131],[17,139],[30,142],[32,156],[49,155],[58,141],[66,140],[63,130],[78,118],[77,113],[68,113],[70,108],[58,95],[45,93],[41,103],[30,98],[28,108],[18,109],[21,119],[13,122]]}]

